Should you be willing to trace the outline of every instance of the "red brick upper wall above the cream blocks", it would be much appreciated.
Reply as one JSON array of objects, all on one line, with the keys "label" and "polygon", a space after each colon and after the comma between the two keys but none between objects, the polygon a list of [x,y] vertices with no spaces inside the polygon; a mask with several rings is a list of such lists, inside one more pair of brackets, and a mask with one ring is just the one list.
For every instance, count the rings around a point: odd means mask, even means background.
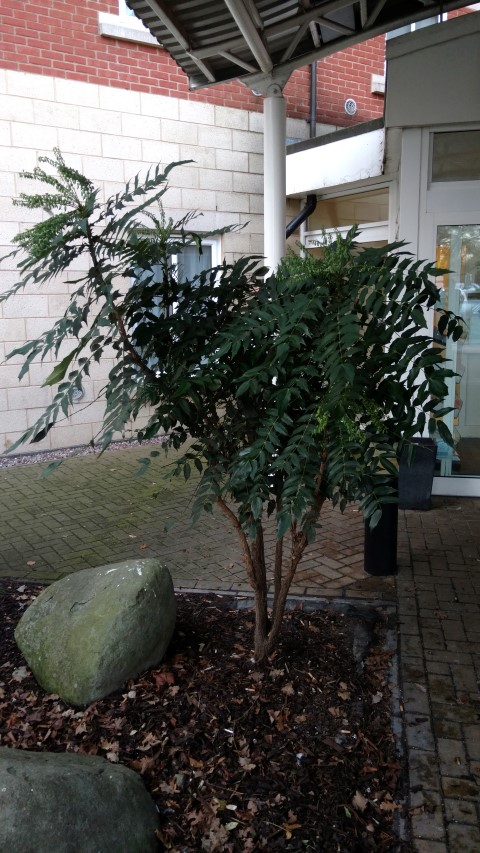
[{"label": "red brick upper wall above the cream blocks", "polygon": [[[99,11],[116,14],[116,0],[1,0],[0,67],[227,107],[263,108],[262,99],[237,82],[190,92],[166,51],[100,36]],[[372,73],[383,70],[383,36],[320,60],[317,121],[348,126],[381,116],[383,98],[372,95],[370,87]],[[309,117],[309,92],[306,67],[294,72],[285,89],[291,117]],[[344,110],[347,98],[357,102],[353,117]]]}]

